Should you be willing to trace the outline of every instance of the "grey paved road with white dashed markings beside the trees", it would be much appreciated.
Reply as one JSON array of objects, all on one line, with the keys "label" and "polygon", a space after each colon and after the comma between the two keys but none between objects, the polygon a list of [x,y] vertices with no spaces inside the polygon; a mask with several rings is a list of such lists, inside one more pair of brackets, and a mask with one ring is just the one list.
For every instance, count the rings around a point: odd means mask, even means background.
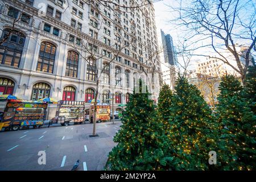
[{"label": "grey paved road with white dashed markings beside the trees", "polygon": [[[79,159],[78,171],[96,171],[105,167],[120,121],[97,123],[92,135],[91,123],[43,127],[0,133],[0,170],[71,170]],[[46,152],[46,164],[38,164],[39,151]]]}]

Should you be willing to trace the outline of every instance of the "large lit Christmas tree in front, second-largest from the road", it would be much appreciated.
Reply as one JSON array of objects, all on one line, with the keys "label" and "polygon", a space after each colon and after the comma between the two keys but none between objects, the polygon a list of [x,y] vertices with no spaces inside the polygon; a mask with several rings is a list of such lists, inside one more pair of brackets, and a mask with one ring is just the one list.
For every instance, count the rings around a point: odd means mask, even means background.
[{"label": "large lit Christmas tree in front, second-largest from the road", "polygon": [[207,170],[209,152],[218,151],[218,125],[195,85],[179,77],[171,104],[170,156],[174,170]]}]

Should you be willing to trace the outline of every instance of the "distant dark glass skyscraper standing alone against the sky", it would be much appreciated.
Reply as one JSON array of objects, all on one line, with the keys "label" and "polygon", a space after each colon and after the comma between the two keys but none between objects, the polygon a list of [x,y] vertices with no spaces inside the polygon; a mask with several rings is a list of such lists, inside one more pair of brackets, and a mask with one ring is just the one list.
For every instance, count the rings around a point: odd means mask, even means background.
[{"label": "distant dark glass skyscraper standing alone against the sky", "polygon": [[163,52],[164,52],[164,63],[169,63],[171,65],[177,64],[177,55],[175,53],[174,43],[172,42],[172,37],[170,34],[164,34],[161,30]]}]

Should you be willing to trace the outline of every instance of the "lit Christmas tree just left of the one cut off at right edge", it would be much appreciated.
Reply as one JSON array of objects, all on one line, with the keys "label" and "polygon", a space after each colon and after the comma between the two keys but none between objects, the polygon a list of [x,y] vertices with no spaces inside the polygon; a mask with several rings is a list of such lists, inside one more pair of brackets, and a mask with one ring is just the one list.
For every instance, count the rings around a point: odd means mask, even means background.
[{"label": "lit Christmas tree just left of the one cut off at right edge", "polygon": [[234,76],[224,76],[219,86],[217,116],[221,123],[221,169],[256,169],[256,118],[247,99],[242,97],[242,86]]}]

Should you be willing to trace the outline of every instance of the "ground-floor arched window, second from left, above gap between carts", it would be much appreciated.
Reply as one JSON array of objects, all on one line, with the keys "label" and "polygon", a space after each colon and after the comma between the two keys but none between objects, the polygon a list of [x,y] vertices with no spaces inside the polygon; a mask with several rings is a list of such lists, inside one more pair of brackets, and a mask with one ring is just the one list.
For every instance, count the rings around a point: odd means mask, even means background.
[{"label": "ground-floor arched window, second from left, above gap between carts", "polygon": [[51,90],[51,87],[44,82],[35,84],[32,89],[31,100],[36,101],[36,100],[39,100],[40,98],[49,97],[50,90]]}]

